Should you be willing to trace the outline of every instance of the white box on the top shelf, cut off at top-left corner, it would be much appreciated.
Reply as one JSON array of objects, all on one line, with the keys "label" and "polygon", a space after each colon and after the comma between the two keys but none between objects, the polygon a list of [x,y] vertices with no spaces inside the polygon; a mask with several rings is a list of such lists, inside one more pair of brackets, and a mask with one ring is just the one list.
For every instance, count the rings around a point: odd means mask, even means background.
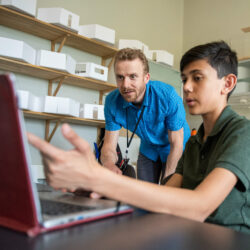
[{"label": "white box on the top shelf, cut off at top-left corner", "polygon": [[31,16],[36,15],[36,0],[0,0],[0,5]]}]

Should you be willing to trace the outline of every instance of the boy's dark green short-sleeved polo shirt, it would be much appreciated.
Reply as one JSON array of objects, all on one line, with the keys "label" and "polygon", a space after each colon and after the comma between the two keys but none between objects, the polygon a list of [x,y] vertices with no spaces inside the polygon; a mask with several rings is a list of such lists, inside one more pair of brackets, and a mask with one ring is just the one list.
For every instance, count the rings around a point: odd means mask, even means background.
[{"label": "boy's dark green short-sleeved polo shirt", "polygon": [[195,189],[216,167],[234,173],[236,186],[206,221],[250,233],[250,121],[227,106],[205,142],[203,136],[202,124],[178,163],[182,187]]}]

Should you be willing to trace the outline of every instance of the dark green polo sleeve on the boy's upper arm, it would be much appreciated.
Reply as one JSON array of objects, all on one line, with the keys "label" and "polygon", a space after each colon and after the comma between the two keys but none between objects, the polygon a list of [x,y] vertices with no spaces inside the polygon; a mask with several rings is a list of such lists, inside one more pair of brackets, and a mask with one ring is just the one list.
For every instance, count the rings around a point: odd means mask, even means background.
[{"label": "dark green polo sleeve on the boy's upper arm", "polygon": [[216,167],[225,168],[238,177],[236,188],[248,190],[250,180],[250,122],[234,124],[220,148]]}]

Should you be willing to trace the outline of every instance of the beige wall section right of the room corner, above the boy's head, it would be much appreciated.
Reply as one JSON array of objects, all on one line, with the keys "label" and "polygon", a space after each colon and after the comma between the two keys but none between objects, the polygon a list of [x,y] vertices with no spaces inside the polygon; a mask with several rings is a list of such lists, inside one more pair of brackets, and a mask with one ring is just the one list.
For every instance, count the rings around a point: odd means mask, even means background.
[{"label": "beige wall section right of the room corner, above the boy's head", "polygon": [[239,57],[250,56],[249,0],[184,0],[183,52],[194,45],[225,40]]}]

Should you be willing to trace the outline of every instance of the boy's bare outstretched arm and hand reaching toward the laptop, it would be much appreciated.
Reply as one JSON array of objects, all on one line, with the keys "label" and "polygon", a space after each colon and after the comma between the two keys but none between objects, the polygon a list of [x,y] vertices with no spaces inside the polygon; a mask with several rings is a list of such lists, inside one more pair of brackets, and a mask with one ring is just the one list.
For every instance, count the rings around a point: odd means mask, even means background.
[{"label": "boy's bare outstretched arm and hand reaching toward the laptop", "polygon": [[62,133],[73,150],[65,152],[28,134],[29,142],[42,153],[47,181],[54,188],[83,188],[153,212],[204,221],[237,182],[237,177],[223,168],[214,169],[195,190],[138,181],[101,167],[89,144],[67,124]]}]

